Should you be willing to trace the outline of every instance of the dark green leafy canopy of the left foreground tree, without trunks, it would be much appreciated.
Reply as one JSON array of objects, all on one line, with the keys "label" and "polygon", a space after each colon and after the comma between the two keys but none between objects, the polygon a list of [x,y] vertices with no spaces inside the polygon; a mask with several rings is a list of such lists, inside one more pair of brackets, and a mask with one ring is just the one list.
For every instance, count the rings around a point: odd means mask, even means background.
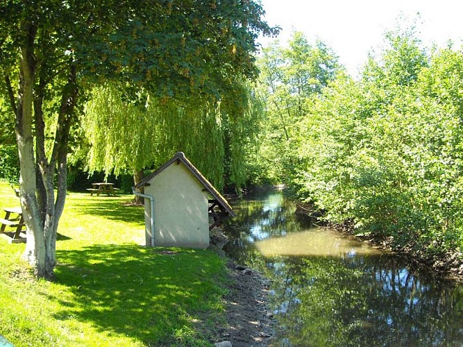
[{"label": "dark green leafy canopy of the left foreground tree, without trunks", "polygon": [[17,69],[18,43],[32,24],[37,77],[78,65],[85,81],[126,81],[162,96],[218,94],[228,76],[256,76],[255,39],[277,32],[263,15],[255,1],[6,1],[0,7],[1,69]]}]

